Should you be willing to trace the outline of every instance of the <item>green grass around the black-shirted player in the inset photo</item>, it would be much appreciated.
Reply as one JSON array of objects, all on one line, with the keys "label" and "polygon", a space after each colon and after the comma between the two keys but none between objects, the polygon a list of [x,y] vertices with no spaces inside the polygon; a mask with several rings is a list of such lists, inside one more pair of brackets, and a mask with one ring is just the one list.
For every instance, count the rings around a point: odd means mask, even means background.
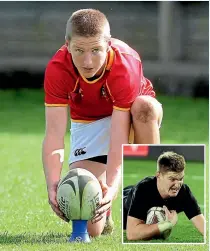
[{"label": "green grass around the black-shirted player in the inset photo", "polygon": [[[153,176],[156,171],[156,162],[147,160],[128,160],[124,161],[123,186],[136,184],[146,176]],[[204,214],[204,164],[187,163],[184,183],[189,185],[191,191],[196,197],[202,213]],[[196,178],[197,177],[197,178]],[[145,191],[146,192],[146,191]],[[155,205],[154,205],[155,206]],[[124,233],[124,242],[128,242]],[[138,241],[139,242],[139,241]],[[143,242],[143,241],[142,241]],[[174,227],[170,238],[167,240],[151,240],[146,243],[174,243],[174,242],[204,242],[203,236],[192,225],[191,221],[184,213],[178,215],[178,223]]]}]

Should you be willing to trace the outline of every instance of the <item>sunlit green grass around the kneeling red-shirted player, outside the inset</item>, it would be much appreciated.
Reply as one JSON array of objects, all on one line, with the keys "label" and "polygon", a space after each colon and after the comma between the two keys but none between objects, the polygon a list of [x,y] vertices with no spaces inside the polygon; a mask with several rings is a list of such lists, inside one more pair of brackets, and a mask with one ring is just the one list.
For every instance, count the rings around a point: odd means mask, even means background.
[{"label": "sunlit green grass around the kneeling red-shirted player, outside the inset", "polygon": [[[159,100],[164,108],[162,143],[208,144],[207,100]],[[0,91],[0,250],[208,250],[207,245],[122,245],[121,196],[113,205],[112,236],[86,245],[69,244],[71,226],[57,218],[47,202],[41,162],[43,103],[41,91]],[[65,144],[63,174],[68,170],[69,132]]]}]

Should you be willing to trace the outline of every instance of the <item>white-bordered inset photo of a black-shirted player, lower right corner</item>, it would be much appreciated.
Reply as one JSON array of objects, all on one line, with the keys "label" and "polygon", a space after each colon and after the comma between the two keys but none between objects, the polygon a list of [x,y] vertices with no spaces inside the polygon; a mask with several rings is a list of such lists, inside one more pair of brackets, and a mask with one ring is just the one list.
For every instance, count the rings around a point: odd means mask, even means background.
[{"label": "white-bordered inset photo of a black-shirted player, lower right corner", "polygon": [[122,242],[206,242],[205,145],[123,145]]}]

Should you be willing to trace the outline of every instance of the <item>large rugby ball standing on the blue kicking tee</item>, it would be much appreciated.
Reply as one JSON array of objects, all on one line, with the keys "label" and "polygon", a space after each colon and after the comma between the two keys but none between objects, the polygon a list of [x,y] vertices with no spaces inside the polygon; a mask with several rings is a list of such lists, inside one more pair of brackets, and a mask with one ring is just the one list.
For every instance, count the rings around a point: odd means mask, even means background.
[{"label": "large rugby ball standing on the blue kicking tee", "polygon": [[83,168],[70,170],[58,184],[57,202],[69,220],[90,220],[101,199],[99,181]]}]

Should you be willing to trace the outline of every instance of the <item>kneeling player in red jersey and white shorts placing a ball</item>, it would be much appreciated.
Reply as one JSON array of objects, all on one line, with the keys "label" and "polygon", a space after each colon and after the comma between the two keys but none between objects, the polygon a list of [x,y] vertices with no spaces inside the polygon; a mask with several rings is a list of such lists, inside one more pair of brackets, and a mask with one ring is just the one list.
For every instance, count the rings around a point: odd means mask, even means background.
[{"label": "kneeling player in red jersey and white shorts placing a ball", "polygon": [[110,207],[120,182],[121,146],[128,143],[131,124],[135,143],[160,143],[162,107],[143,75],[138,53],[111,38],[103,13],[94,9],[74,12],[67,21],[65,39],[65,45],[48,63],[44,80],[43,166],[49,203],[64,219],[56,189],[70,107],[70,168],[92,172],[104,192],[101,207],[88,223],[89,234],[98,236],[106,214],[105,230],[112,231]]}]

